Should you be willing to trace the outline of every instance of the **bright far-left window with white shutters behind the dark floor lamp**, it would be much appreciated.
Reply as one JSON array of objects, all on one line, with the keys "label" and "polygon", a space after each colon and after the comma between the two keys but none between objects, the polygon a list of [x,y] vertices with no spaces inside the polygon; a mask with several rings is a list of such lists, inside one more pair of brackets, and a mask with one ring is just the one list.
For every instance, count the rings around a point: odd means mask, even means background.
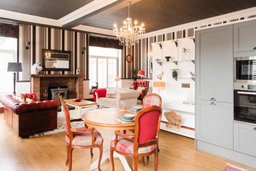
[{"label": "bright far-left window with white shutters behind the dark floor lamp", "polygon": [[8,62],[16,62],[16,54],[17,39],[0,37],[0,93],[13,92],[13,72],[7,72],[7,66]]}]

